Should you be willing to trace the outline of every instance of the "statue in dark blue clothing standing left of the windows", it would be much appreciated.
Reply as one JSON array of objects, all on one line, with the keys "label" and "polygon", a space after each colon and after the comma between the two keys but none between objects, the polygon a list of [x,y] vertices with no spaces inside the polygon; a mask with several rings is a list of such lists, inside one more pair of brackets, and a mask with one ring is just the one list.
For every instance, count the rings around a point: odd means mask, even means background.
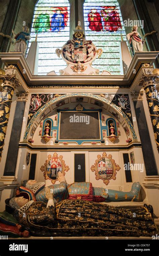
[{"label": "statue in dark blue clothing standing left of the windows", "polygon": [[28,43],[31,38],[30,34],[28,33],[29,32],[28,26],[23,26],[23,31],[19,32],[17,35],[14,34],[13,30],[12,32],[14,35],[14,39],[16,39],[14,51],[23,53],[23,55],[25,56]]}]

